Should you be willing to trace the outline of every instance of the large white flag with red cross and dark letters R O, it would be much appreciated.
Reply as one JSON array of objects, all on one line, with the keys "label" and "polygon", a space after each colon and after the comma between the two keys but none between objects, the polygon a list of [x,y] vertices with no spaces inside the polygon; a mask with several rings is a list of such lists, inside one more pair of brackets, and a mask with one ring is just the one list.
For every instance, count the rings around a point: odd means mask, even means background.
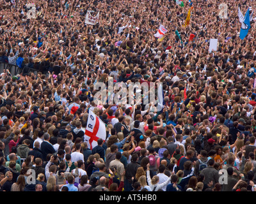
[{"label": "large white flag with red cross and dark letters R O", "polygon": [[89,143],[90,149],[92,150],[93,147],[98,145],[97,140],[99,138],[102,138],[104,141],[106,140],[106,125],[89,109],[84,142]]}]

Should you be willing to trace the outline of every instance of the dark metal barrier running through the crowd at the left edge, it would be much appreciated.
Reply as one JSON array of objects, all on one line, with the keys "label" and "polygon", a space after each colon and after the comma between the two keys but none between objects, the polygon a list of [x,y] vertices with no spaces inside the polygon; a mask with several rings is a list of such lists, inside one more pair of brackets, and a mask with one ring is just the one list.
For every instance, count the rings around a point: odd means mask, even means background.
[{"label": "dark metal barrier running through the crowd at the left edge", "polygon": [[38,73],[37,69],[29,68],[28,66],[24,66],[24,68],[19,68],[19,66],[17,65],[0,62],[0,73],[3,73],[4,69],[8,69],[12,76],[24,73],[24,70],[26,70],[28,73],[33,72],[35,75]]}]

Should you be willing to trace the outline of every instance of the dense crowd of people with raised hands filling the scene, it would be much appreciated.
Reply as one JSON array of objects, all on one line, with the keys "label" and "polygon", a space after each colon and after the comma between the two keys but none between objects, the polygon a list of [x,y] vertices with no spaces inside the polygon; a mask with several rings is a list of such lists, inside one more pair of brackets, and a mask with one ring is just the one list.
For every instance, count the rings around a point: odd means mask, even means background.
[{"label": "dense crowd of people with raised hands filling the scene", "polygon": [[[22,70],[0,76],[1,191],[256,190],[256,24],[241,40],[237,16],[255,1],[225,1],[227,19],[214,0],[29,3],[36,18],[0,5],[0,61]],[[157,103],[108,104],[97,82],[113,97],[109,82],[161,82],[163,106],[158,89]],[[95,147],[90,110],[106,125]]]}]

